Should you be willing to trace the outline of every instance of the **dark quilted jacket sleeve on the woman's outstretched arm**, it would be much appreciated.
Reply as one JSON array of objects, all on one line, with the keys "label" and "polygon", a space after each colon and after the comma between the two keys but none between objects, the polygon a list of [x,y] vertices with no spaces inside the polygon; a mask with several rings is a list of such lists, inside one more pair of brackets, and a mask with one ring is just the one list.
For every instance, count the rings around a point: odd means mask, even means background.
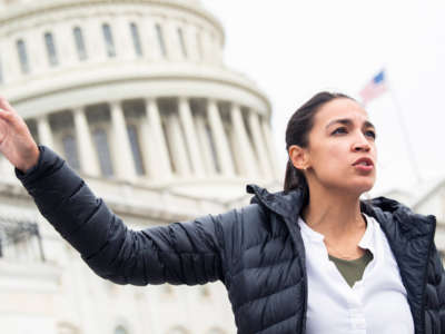
[{"label": "dark quilted jacket sleeve on the woman's outstretched arm", "polygon": [[224,279],[222,220],[230,213],[131,230],[47,147],[16,170],[41,214],[101,277],[118,284],[202,284]]}]

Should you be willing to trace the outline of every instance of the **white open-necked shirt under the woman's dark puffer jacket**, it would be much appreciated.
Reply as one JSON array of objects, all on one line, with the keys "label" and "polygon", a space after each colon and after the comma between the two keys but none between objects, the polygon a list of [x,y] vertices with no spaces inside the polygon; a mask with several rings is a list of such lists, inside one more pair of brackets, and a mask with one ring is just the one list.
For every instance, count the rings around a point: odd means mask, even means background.
[{"label": "white open-necked shirt under the woman's dark puffer jacket", "polygon": [[350,287],[328,258],[324,236],[301,218],[308,305],[306,334],[413,334],[414,322],[397,263],[379,224],[366,216],[362,240],[373,253],[363,278]]}]

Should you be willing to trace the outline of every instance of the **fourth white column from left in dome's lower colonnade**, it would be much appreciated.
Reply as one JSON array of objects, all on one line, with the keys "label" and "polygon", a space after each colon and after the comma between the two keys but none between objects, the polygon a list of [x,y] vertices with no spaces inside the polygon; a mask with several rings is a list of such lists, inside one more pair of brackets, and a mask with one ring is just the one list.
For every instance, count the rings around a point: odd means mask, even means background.
[{"label": "fourth white column from left in dome's lower colonnade", "polygon": [[[146,112],[150,127],[151,138],[154,140],[152,146],[156,150],[151,150],[151,155],[157,151],[157,156],[149,157],[156,164],[154,169],[156,170],[156,177],[170,178],[171,177],[171,164],[168,155],[167,143],[164,137],[162,124],[159,116],[158,105],[155,99],[146,100]],[[155,165],[154,164],[154,165]]]}]

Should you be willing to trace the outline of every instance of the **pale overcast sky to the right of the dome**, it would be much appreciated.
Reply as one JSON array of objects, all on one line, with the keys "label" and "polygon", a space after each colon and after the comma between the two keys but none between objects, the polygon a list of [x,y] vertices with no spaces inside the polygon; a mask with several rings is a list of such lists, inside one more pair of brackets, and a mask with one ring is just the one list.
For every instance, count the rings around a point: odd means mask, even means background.
[{"label": "pale overcast sky to the right of the dome", "polygon": [[413,160],[422,179],[445,177],[445,1],[201,2],[225,27],[226,65],[254,79],[273,104],[283,166],[286,122],[297,107],[325,89],[358,98],[384,67],[390,92],[367,106],[378,136],[375,193],[412,186]]}]

